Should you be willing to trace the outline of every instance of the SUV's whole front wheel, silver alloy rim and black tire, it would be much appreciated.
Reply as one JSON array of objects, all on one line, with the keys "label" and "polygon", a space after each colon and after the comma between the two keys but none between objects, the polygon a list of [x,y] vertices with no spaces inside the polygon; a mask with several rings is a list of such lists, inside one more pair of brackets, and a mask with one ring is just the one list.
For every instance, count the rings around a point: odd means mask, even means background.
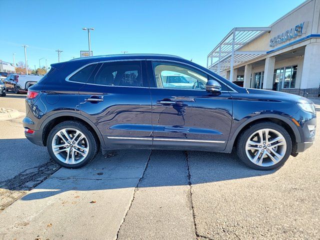
[{"label": "SUV's whole front wheel, silver alloy rim and black tire", "polygon": [[288,132],[273,122],[260,122],[244,130],[237,140],[237,154],[258,170],[280,167],[288,159],[292,141]]}]

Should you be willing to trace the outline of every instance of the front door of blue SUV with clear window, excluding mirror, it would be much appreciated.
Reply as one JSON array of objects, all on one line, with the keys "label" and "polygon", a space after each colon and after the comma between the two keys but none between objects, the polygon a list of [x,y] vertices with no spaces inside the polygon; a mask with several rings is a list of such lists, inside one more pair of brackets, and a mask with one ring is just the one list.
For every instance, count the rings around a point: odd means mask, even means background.
[{"label": "front door of blue SUV with clear window, excluding mirror", "polygon": [[170,61],[148,61],[152,98],[153,147],[218,151],[226,146],[232,100],[221,82],[220,94],[205,90],[207,73]]}]

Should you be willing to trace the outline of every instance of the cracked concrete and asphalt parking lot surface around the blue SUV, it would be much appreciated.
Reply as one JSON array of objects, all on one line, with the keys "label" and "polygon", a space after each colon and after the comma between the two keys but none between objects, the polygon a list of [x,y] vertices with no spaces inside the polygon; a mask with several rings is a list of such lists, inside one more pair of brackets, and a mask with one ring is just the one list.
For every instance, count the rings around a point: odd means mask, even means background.
[{"label": "cracked concrete and asphalt parking lot surface around the blue SUV", "polygon": [[[24,97],[0,107],[23,111]],[[0,121],[0,239],[320,238],[319,131],[273,171],[234,153],[167,150],[116,150],[65,169],[25,139],[21,120]]]}]

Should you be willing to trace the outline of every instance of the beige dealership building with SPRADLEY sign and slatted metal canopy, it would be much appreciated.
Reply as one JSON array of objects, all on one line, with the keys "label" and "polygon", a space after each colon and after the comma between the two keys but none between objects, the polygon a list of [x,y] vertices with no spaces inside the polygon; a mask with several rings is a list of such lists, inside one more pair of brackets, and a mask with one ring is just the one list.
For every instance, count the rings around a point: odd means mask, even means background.
[{"label": "beige dealership building with SPRADLEY sign and slatted metal canopy", "polygon": [[208,54],[207,67],[250,88],[318,96],[320,0],[306,0],[269,26],[235,27]]}]

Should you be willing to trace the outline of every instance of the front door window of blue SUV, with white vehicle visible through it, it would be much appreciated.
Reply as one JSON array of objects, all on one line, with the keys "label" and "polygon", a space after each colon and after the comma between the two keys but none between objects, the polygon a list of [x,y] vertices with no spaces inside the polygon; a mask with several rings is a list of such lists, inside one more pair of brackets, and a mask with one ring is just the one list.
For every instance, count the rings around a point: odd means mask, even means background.
[{"label": "front door window of blue SUV, with white vehicle visible through it", "polygon": [[158,88],[205,89],[207,76],[180,64],[152,62]]}]

